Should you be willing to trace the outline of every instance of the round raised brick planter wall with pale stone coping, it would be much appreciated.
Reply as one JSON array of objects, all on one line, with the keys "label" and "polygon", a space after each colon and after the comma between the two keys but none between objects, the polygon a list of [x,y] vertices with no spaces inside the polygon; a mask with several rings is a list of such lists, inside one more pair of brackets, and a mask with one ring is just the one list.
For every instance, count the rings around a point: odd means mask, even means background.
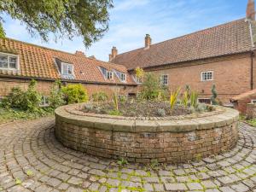
[{"label": "round raised brick planter wall with pale stone coping", "polygon": [[238,139],[239,113],[230,108],[148,119],[83,113],[80,108],[55,110],[55,136],[67,148],[98,157],[177,163],[219,154]]}]

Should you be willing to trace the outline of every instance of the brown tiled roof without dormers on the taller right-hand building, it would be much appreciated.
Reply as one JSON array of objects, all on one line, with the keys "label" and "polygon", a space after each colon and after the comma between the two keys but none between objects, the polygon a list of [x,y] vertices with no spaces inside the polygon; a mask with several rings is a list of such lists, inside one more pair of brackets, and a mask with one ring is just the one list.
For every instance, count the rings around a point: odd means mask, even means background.
[{"label": "brown tiled roof without dormers on the taller right-hand building", "polygon": [[134,69],[247,52],[253,48],[250,33],[248,21],[235,20],[221,26],[153,44],[149,49],[131,50],[117,55],[112,62],[125,65],[128,69]]}]

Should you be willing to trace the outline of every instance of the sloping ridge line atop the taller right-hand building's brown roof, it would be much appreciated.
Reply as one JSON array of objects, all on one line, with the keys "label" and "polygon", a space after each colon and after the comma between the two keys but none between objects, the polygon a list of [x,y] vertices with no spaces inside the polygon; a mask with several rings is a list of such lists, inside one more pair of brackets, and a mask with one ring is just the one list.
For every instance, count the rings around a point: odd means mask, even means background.
[{"label": "sloping ridge line atop the taller right-hand building's brown roof", "polygon": [[[225,23],[220,24],[220,25],[218,25],[218,26],[211,26],[211,27],[208,27],[208,28],[206,28],[206,29],[202,29],[202,30],[199,30],[199,31],[191,32],[191,33],[188,33],[188,34],[185,34],[185,35],[176,37],[176,38],[170,38],[170,39],[167,39],[167,40],[165,40],[165,41],[161,41],[161,42],[159,42],[159,43],[152,44],[151,46],[154,46],[154,45],[157,45],[157,44],[163,44],[163,43],[166,43],[166,42],[168,42],[168,41],[172,41],[172,40],[175,40],[175,39],[178,39],[178,38],[184,38],[184,37],[186,37],[186,36],[193,35],[193,34],[195,34],[195,33],[197,33],[197,32],[205,32],[205,31],[207,31],[207,30],[210,30],[210,29],[213,29],[213,28],[216,28],[216,27],[219,27],[219,26],[225,26],[225,25],[228,25],[228,24],[230,24],[230,23],[237,22],[237,21],[239,21],[239,20],[244,20],[245,22],[247,22],[246,18],[241,18],[241,19],[238,19],[238,20],[232,20],[232,21],[230,21],[230,22],[225,22]],[[121,54],[119,54],[119,55],[128,54],[128,53],[131,53],[131,52],[133,52],[133,51],[137,51],[137,50],[139,50],[139,49],[144,49],[144,47],[137,48],[137,49],[132,49],[132,50],[126,51],[126,52],[124,52],[124,53],[121,53]],[[119,55],[117,55],[117,56],[119,56]]]}]

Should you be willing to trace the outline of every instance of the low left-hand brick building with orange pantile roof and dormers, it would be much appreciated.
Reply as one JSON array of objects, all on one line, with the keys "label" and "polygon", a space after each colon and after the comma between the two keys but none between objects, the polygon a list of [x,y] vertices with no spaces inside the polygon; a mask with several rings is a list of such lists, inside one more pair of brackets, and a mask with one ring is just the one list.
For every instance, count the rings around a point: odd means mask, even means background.
[{"label": "low left-hand brick building with orange pantile roof and dormers", "polygon": [[26,90],[31,79],[38,81],[38,91],[49,94],[50,85],[61,79],[65,84],[84,84],[89,94],[105,91],[120,95],[133,91],[135,84],[126,67],[75,54],[26,44],[10,38],[0,39],[0,96],[9,94],[11,88]]}]

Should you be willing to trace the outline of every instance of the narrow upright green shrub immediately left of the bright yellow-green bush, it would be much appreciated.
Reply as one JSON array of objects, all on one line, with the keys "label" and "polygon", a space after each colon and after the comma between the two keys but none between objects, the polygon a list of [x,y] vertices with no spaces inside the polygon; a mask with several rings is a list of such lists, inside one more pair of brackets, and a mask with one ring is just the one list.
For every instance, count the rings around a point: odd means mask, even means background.
[{"label": "narrow upright green shrub immediately left of the bright yellow-green bush", "polygon": [[49,92],[49,106],[51,108],[58,108],[61,105],[64,105],[64,94],[61,91],[61,81],[57,80],[52,85],[51,90]]}]

